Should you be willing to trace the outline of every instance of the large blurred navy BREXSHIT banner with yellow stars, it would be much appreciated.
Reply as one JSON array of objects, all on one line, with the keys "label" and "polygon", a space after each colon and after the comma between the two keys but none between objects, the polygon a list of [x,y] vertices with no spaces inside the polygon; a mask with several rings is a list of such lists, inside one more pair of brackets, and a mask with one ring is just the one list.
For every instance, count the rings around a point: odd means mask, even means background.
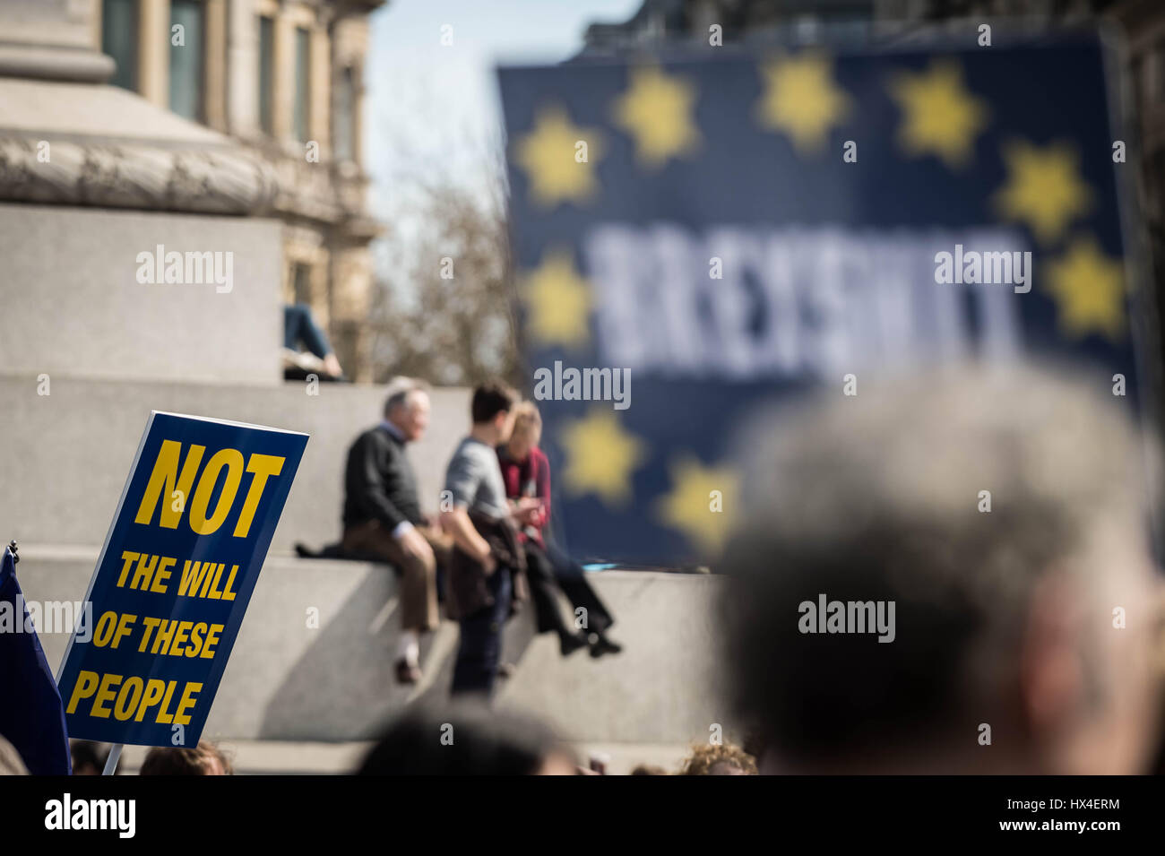
[{"label": "large blurred navy BREXSHIT banner with yellow stars", "polygon": [[733,429],[807,384],[1046,355],[1135,398],[1117,198],[1134,165],[1103,68],[1085,37],[501,69],[566,546],[714,556]]}]

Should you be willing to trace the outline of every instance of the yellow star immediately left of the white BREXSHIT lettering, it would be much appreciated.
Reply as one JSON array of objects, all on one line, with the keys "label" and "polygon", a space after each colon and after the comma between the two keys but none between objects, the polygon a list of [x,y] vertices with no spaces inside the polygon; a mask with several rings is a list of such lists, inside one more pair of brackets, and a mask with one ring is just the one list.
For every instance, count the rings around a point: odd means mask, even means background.
[{"label": "yellow star immediately left of the white BREXSHIT lettering", "polygon": [[522,299],[530,310],[527,326],[543,345],[582,345],[589,338],[591,288],[574,273],[571,254],[548,250],[522,285]]}]

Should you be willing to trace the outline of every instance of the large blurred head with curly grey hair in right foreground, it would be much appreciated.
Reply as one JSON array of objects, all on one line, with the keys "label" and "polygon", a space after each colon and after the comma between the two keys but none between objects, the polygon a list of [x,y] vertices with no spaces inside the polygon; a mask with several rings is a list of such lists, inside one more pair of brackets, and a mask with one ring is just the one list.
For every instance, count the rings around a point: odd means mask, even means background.
[{"label": "large blurred head with curly grey hair in right foreground", "polygon": [[764,423],[725,557],[762,772],[1144,770],[1146,447],[1108,392],[949,369]]}]

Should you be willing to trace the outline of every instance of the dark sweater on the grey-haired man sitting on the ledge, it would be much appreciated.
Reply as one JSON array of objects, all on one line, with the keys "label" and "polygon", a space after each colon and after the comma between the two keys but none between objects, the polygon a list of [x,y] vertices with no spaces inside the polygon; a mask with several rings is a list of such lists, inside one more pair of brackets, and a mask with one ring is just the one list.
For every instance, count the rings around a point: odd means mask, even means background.
[{"label": "dark sweater on the grey-haired man sitting on the ledge", "polygon": [[417,476],[404,451],[383,425],[365,431],[348,450],[344,472],[344,526],[380,521],[393,531],[403,521],[424,522]]}]

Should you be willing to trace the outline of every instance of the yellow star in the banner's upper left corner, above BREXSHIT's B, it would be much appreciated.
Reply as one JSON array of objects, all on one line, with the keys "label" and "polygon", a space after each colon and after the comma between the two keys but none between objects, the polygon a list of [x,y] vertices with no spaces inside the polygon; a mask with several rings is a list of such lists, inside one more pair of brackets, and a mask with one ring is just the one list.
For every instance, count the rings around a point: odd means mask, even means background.
[{"label": "yellow star in the banner's upper left corner, above BREXSHIT's B", "polygon": [[[586,143],[579,161],[578,146]],[[594,163],[602,156],[602,139],[593,128],[571,125],[562,107],[545,107],[534,120],[534,130],[517,144],[515,160],[530,178],[530,197],[544,206],[560,201],[586,201],[594,196]]]}]

